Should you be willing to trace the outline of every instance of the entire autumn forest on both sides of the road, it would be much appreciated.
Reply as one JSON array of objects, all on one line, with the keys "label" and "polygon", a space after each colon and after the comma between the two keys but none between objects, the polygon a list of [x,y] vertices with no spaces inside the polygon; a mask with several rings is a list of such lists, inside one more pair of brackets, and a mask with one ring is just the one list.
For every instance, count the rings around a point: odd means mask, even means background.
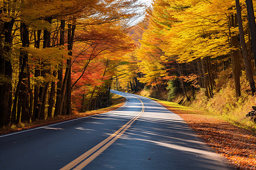
[{"label": "entire autumn forest on both sides of the road", "polygon": [[0,1],[0,126],[109,107],[110,89],[241,121],[255,104],[255,3]]}]

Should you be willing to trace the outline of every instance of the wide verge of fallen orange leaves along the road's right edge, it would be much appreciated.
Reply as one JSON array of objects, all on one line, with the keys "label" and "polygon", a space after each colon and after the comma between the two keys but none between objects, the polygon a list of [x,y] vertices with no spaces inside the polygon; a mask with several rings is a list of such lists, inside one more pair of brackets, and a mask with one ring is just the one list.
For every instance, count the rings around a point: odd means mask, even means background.
[{"label": "wide verge of fallen orange leaves along the road's right edge", "polygon": [[256,169],[256,133],[199,109],[156,100],[183,118],[196,133],[237,169]]}]

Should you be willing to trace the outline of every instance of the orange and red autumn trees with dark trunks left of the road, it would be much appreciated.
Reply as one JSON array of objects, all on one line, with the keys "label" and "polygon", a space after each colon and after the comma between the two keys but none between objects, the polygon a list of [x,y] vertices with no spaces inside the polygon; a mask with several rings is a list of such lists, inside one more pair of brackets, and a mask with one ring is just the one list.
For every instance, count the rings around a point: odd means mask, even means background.
[{"label": "orange and red autumn trees with dark trunks left of the road", "polygon": [[137,1],[0,1],[0,126],[110,105]]}]

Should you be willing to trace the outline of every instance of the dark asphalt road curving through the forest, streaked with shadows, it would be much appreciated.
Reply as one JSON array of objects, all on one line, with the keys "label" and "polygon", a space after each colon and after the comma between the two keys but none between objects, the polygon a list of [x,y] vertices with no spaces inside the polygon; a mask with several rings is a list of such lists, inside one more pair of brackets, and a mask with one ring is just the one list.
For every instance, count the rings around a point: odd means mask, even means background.
[{"label": "dark asphalt road curving through the forest, streaked with shadows", "polygon": [[234,169],[146,97],[97,116],[0,136],[0,169]]}]

